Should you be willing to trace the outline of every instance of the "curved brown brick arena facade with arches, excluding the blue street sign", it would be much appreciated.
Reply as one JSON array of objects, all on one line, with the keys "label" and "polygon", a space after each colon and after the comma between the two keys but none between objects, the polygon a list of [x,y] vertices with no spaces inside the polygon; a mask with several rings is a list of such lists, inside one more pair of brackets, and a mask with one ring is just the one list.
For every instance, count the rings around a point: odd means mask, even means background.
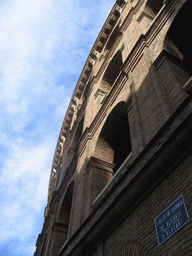
[{"label": "curved brown brick arena facade with arches, excluding the blue street sign", "polygon": [[[192,255],[191,0],[119,0],[67,110],[35,256]],[[189,222],[159,245],[183,195]]]}]

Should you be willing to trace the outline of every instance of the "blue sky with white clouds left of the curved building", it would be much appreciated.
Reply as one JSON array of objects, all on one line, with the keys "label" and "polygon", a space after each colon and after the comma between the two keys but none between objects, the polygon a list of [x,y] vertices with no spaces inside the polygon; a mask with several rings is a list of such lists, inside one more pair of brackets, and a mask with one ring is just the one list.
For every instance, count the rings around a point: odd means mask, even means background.
[{"label": "blue sky with white clouds left of the curved building", "polygon": [[33,255],[68,103],[114,0],[0,0],[0,255]]}]

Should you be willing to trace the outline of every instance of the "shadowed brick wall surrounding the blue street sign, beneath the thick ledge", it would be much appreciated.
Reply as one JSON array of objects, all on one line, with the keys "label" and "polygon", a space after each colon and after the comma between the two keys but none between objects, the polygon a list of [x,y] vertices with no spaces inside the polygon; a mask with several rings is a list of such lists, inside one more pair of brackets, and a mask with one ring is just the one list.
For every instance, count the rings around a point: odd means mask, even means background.
[{"label": "shadowed brick wall surrounding the blue street sign, beneath the thick ledge", "polygon": [[[183,195],[189,222],[158,245],[155,219]],[[189,154],[103,242],[94,256],[192,255],[192,157]],[[100,245],[101,248],[101,245]]]}]

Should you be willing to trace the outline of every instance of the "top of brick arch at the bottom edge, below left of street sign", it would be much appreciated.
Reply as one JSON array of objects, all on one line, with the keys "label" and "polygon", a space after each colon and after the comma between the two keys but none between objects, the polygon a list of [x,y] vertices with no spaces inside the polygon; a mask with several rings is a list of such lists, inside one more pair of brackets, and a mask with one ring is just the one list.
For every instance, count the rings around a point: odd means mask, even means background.
[{"label": "top of brick arch at the bottom edge, below left of street sign", "polygon": [[113,250],[115,256],[150,256],[149,251],[138,242],[123,243]]}]

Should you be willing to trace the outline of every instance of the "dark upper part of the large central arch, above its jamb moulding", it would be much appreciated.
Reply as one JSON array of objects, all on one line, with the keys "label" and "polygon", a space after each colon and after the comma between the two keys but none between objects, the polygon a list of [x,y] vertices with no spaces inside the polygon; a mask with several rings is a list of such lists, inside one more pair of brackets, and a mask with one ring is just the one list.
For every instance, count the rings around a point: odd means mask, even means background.
[{"label": "dark upper part of the large central arch, above its jamb moulding", "polygon": [[113,163],[115,173],[131,153],[128,115],[125,102],[120,102],[108,116],[97,142],[97,158]]}]

